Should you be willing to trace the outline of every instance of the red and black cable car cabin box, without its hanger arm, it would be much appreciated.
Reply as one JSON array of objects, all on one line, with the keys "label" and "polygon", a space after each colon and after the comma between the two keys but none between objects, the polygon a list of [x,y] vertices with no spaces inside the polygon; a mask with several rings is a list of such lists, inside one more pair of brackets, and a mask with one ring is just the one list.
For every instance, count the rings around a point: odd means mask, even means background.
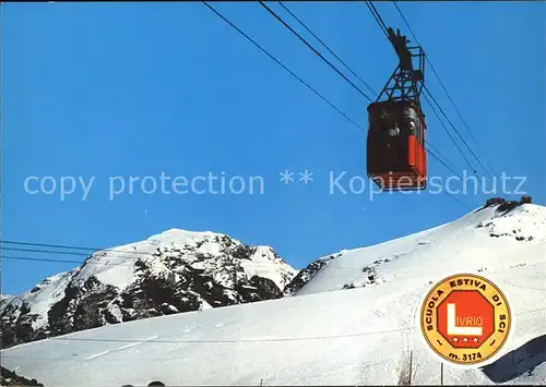
[{"label": "red and black cable car cabin box, without its hanger arm", "polygon": [[425,119],[411,100],[368,106],[368,177],[383,191],[424,190],[427,185]]}]

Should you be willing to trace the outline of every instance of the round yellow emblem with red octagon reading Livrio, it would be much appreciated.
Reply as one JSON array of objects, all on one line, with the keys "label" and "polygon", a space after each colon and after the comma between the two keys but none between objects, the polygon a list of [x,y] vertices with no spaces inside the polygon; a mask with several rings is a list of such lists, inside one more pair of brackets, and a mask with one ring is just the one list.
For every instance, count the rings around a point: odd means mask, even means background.
[{"label": "round yellow emblem with red octagon reading Livrio", "polygon": [[511,326],[508,300],[488,279],[459,274],[428,292],[420,311],[427,343],[443,360],[477,364],[505,344]]}]

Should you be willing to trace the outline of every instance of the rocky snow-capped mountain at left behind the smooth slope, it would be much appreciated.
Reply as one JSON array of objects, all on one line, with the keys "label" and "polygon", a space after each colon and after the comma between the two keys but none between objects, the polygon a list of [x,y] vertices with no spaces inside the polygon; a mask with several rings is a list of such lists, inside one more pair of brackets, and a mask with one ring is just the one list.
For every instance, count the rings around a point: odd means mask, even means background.
[{"label": "rocky snow-capped mountain at left behind the smooth slope", "polygon": [[106,324],[282,297],[297,270],[268,246],[169,230],[91,255],[17,297],[2,297],[2,347]]}]

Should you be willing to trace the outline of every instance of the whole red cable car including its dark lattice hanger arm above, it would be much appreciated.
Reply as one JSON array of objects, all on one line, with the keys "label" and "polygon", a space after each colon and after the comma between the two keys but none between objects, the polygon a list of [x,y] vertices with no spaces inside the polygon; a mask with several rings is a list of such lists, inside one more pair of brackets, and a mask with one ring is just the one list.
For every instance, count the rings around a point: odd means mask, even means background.
[{"label": "whole red cable car including its dark lattice hanger arm above", "polygon": [[[368,177],[383,191],[424,190],[427,185],[426,122],[419,95],[424,85],[420,47],[407,47],[405,36],[388,29],[400,64],[368,106]],[[412,52],[411,50],[417,50]],[[413,58],[419,59],[414,70]]]}]

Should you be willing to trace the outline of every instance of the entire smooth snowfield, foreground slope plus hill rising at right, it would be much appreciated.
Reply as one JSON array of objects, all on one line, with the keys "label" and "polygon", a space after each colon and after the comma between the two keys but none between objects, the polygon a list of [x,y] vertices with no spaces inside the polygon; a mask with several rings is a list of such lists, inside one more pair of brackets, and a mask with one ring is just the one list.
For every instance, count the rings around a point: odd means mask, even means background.
[{"label": "entire smooth snowfield, foreground slope plus hill rising at right", "polygon": [[[446,385],[546,384],[546,208],[492,201],[453,222],[328,255],[290,297],[109,325],[17,346],[2,365],[46,386],[438,385],[419,310],[432,283],[475,273],[512,311],[485,366]],[[410,366],[410,364],[412,364]]]}]

